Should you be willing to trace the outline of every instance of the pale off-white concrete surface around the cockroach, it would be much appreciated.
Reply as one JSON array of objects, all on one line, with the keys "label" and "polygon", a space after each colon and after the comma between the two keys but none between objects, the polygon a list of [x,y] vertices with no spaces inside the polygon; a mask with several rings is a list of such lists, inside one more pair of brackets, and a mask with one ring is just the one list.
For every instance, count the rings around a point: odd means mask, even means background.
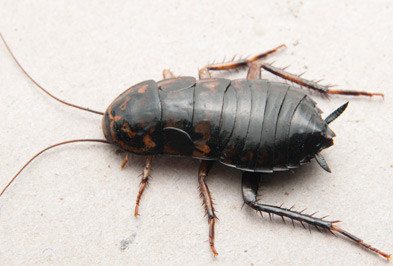
[{"label": "pale off-white concrete surface around the cockroach", "polygon": [[[332,124],[335,146],[315,162],[266,176],[267,203],[296,204],[393,252],[393,2],[391,1],[0,1],[0,30],[28,71],[57,96],[104,110],[139,81],[182,75],[214,59],[288,49],[271,60],[339,88],[381,91],[385,100],[314,98],[326,113],[350,100]],[[244,73],[241,73],[244,75]],[[270,77],[265,75],[265,77]],[[39,92],[0,45],[0,187],[49,144],[101,138],[100,117]],[[198,162],[158,158],[141,216],[132,216],[143,158],[101,144],[45,153],[0,199],[0,261],[12,264],[384,265],[330,234],[241,209],[239,171],[215,167],[208,185],[220,218],[219,256],[197,191]]]}]

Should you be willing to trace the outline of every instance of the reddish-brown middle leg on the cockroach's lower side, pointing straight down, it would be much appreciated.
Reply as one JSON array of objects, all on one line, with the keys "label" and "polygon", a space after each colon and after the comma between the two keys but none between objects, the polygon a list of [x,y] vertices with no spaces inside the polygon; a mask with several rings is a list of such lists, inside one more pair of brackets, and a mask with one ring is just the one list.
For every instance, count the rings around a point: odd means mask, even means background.
[{"label": "reddish-brown middle leg on the cockroach's lower side, pointing straight down", "polygon": [[203,199],[203,205],[205,207],[207,219],[209,222],[209,243],[210,249],[213,252],[214,256],[217,256],[217,250],[214,247],[214,224],[217,219],[216,215],[214,214],[214,207],[213,207],[213,199],[211,197],[209,188],[205,183],[205,178],[209,173],[209,170],[213,166],[213,161],[202,161],[199,166],[198,172],[198,182],[199,182],[199,191],[200,195]]}]

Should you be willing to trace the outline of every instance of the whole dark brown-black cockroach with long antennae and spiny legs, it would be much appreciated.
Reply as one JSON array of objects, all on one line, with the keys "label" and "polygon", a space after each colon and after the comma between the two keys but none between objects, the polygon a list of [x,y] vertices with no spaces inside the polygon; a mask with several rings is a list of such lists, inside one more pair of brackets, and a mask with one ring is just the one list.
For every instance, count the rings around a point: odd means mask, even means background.
[{"label": "whole dark brown-black cockroach with long antennae and spiny legs", "polygon": [[[366,244],[341,229],[339,221],[306,214],[292,208],[262,204],[257,200],[260,177],[265,173],[294,169],[315,158],[326,171],[330,168],[321,151],[333,145],[334,132],[329,124],[347,107],[345,103],[325,119],[316,102],[293,84],[317,91],[322,95],[382,96],[367,91],[336,90],[332,86],[306,80],[285,69],[265,63],[264,59],[284,48],[272,50],[199,70],[199,79],[176,77],[163,71],[161,81],[148,80],[120,94],[105,112],[65,102],[35,81],[18,62],[8,44],[5,47],[24,74],[43,92],[55,100],[101,115],[105,139],[76,139],[49,146],[33,156],[7,183],[0,196],[17,176],[43,152],[75,142],[113,144],[121,150],[146,156],[146,164],[136,198],[134,215],[139,215],[142,194],[149,181],[152,163],[158,155],[190,156],[201,161],[198,182],[209,225],[209,244],[214,256],[214,227],[217,219],[213,200],[205,179],[214,162],[242,171],[244,203],[259,213],[268,213],[320,229],[338,233],[361,247],[390,260],[391,254]],[[246,79],[212,78],[212,71],[248,68]],[[261,78],[261,70],[281,77],[288,83]],[[122,163],[124,166],[128,157]]]}]

